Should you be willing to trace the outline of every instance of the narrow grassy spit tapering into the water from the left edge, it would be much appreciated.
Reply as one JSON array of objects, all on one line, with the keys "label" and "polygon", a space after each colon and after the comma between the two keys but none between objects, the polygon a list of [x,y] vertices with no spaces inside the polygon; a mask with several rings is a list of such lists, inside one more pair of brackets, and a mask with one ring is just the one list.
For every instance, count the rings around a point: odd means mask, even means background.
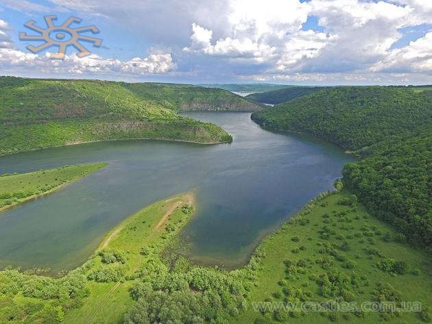
[{"label": "narrow grassy spit tapering into the water from the left edge", "polygon": [[46,195],[95,172],[108,163],[77,164],[58,169],[0,176],[0,211]]}]

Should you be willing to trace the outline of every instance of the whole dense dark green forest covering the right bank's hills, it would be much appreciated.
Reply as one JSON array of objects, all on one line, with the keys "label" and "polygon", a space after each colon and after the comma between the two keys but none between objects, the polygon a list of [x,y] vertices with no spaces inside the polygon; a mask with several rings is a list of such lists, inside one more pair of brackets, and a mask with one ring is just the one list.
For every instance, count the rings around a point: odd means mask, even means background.
[{"label": "whole dense dark green forest covering the right bank's hills", "polygon": [[252,114],[269,129],[304,132],[357,151],[344,179],[368,211],[431,247],[432,92],[329,88]]}]

